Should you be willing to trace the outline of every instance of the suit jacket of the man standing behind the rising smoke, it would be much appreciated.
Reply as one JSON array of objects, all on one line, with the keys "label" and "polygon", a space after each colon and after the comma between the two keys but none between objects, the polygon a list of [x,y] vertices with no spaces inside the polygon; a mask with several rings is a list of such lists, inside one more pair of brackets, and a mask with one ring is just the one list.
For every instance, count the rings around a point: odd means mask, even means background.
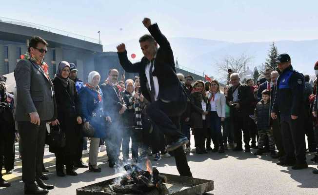
[{"label": "suit jacket of the man standing behind the rising smoke", "polygon": [[[109,116],[112,118],[112,120],[117,120],[119,119],[119,111],[122,108],[123,105],[123,99],[119,99],[115,89],[106,84],[103,83],[100,85],[100,89],[104,95],[104,100],[103,100],[103,110],[104,112],[107,112]],[[119,92],[121,93],[121,92]],[[121,94],[122,97],[122,94]]]}]

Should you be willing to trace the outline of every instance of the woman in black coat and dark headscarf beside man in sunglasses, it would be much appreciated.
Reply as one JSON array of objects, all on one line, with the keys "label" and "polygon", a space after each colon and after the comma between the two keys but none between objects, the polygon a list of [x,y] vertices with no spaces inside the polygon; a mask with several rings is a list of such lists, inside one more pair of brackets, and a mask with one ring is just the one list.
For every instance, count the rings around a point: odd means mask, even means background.
[{"label": "woman in black coat and dark headscarf beside man in sunglasses", "polygon": [[[56,156],[56,171],[58,176],[65,176],[63,170],[66,165],[66,174],[77,176],[73,170],[76,151],[80,145],[80,131],[78,124],[82,119],[78,112],[78,94],[74,81],[69,79],[71,67],[67,61],[59,63],[56,78],[53,79],[57,109],[58,122],[52,122],[53,126],[60,125],[60,130],[65,133],[65,147],[50,147],[50,152]],[[54,127],[53,127],[54,128]]]}]

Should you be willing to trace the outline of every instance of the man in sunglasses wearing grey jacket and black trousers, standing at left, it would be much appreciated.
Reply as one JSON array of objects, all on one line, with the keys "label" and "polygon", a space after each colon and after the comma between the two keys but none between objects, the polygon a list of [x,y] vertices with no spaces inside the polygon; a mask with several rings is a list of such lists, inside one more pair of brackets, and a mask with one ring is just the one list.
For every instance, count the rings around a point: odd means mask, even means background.
[{"label": "man in sunglasses wearing grey jacket and black trousers, standing at left", "polygon": [[39,178],[42,174],[46,122],[59,123],[55,119],[57,110],[54,87],[43,62],[46,46],[44,39],[33,37],[28,48],[28,58],[21,59],[14,71],[18,95],[15,119],[18,121],[23,148],[22,181],[25,194],[43,195],[54,188]]}]

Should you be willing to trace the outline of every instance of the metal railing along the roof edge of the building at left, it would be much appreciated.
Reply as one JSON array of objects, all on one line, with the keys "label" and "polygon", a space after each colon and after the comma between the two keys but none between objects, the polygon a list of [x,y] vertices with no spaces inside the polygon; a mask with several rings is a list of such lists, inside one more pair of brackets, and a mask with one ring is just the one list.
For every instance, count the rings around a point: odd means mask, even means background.
[{"label": "metal railing along the roof edge of the building at left", "polygon": [[23,21],[23,20],[15,20],[15,19],[10,19],[10,18],[0,17],[0,22],[16,24],[16,25],[26,26],[26,27],[31,27],[31,28],[36,28],[36,29],[39,29],[39,30],[43,30],[43,31],[51,32],[51,33],[56,33],[56,34],[59,34],[59,35],[64,35],[64,36],[72,37],[72,38],[75,38],[75,39],[81,39],[81,40],[85,40],[85,41],[101,44],[101,42],[99,42],[98,39],[85,37],[85,36],[82,36],[82,35],[79,35],[79,34],[67,32],[67,31],[64,31],[64,30],[60,30],[60,29],[49,27],[49,26],[44,26],[44,25],[32,23],[32,22],[27,22],[27,21]]}]

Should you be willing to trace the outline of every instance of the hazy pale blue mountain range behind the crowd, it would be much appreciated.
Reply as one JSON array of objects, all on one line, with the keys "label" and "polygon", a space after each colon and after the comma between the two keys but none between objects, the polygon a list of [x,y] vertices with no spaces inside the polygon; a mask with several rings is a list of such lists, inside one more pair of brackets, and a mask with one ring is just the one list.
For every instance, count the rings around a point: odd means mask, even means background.
[{"label": "hazy pale blue mountain range behind the crowd", "polygon": [[[207,74],[219,78],[216,62],[226,56],[239,57],[244,54],[252,58],[249,65],[251,70],[260,67],[265,62],[272,42],[243,42],[234,43],[210,39],[197,38],[168,38],[174,52],[175,60],[178,59],[180,68],[188,69],[197,74]],[[291,57],[294,69],[303,74],[314,76],[314,64],[318,60],[318,39],[314,40],[279,40],[275,41],[279,53],[287,53]],[[104,51],[116,51],[117,44],[104,45]],[[142,57],[138,39],[125,42],[129,59],[138,61]],[[132,59],[131,54],[136,54]]]}]

